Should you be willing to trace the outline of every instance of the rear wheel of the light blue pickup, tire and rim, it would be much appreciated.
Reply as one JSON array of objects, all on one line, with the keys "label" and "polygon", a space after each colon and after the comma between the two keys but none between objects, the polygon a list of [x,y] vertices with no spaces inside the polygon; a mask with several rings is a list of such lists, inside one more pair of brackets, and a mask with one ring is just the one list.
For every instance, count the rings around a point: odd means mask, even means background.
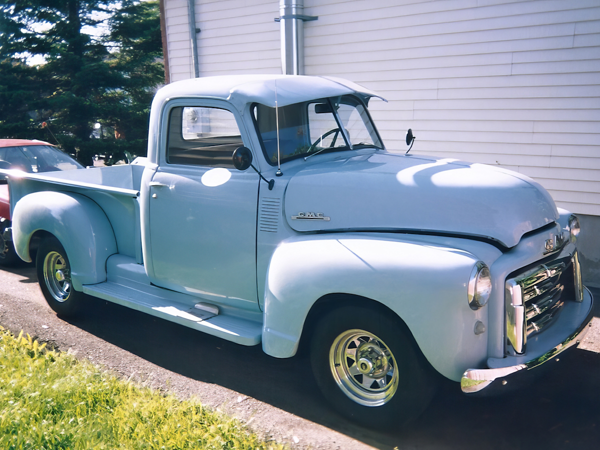
[{"label": "rear wheel of the light blue pickup, tire and rim", "polygon": [[54,236],[45,238],[35,259],[38,283],[46,301],[56,313],[74,317],[80,312],[85,294],[73,289],[71,265],[65,249]]}]

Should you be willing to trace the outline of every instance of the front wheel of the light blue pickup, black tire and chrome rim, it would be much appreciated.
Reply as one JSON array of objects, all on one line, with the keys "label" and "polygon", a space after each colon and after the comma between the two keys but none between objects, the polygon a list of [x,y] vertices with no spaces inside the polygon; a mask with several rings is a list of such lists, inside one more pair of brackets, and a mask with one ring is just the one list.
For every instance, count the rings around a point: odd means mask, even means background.
[{"label": "front wheel of the light blue pickup, black tire and chrome rim", "polygon": [[323,395],[343,416],[367,427],[406,425],[435,392],[433,369],[394,313],[347,304],[320,318],[311,365]]}]

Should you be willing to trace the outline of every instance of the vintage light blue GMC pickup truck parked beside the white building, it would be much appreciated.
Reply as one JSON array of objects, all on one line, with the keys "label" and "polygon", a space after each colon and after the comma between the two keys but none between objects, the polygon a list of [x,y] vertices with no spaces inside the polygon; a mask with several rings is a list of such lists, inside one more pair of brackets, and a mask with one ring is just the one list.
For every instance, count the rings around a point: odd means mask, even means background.
[{"label": "vintage light blue GMC pickup truck parked beside the white building", "polygon": [[502,391],[586,331],[577,217],[519,173],[389,152],[372,97],[333,77],[172,83],[148,157],[2,172],[4,237],[26,261],[37,246],[57,313],[88,294],[277,358],[308,349],[365,425],[418,414],[439,374]]}]

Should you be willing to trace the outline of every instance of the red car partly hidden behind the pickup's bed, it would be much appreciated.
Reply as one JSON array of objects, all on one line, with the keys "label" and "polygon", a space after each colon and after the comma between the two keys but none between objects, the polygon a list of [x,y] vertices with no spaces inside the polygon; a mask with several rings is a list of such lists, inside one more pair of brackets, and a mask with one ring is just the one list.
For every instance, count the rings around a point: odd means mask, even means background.
[{"label": "red car partly hidden behind the pickup's bed", "polygon": [[[61,149],[43,140],[0,139],[0,169],[18,169],[23,172],[52,172],[53,170],[83,169],[83,166]],[[19,262],[10,236],[4,231],[10,227],[8,184],[0,177],[0,265]]]}]

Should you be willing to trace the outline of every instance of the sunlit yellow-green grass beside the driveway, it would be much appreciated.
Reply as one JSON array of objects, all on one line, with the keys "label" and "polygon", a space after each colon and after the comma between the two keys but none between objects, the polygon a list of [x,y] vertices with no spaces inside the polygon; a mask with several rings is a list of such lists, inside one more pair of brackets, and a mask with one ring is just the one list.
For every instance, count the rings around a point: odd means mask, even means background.
[{"label": "sunlit yellow-green grass beside the driveway", "polygon": [[0,326],[1,449],[281,449],[236,419]]}]

